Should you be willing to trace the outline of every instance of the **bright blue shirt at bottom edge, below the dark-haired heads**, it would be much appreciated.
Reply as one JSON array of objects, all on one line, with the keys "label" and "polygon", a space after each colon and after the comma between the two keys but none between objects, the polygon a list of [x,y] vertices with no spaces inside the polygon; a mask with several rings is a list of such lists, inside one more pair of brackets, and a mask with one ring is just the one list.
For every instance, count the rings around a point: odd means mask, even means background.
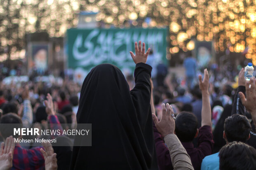
[{"label": "bright blue shirt at bottom edge, below the dark-haired heads", "polygon": [[219,153],[206,156],[201,164],[201,170],[219,170]]}]

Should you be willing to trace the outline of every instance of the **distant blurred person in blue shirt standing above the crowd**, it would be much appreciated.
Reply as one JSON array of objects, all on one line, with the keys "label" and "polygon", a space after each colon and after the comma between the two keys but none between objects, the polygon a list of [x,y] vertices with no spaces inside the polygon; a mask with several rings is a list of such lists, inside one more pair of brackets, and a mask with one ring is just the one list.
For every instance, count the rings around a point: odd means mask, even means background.
[{"label": "distant blurred person in blue shirt standing above the crowd", "polygon": [[193,88],[193,82],[196,77],[197,61],[192,57],[190,52],[184,60],[183,66],[186,70],[186,84],[189,89]]}]

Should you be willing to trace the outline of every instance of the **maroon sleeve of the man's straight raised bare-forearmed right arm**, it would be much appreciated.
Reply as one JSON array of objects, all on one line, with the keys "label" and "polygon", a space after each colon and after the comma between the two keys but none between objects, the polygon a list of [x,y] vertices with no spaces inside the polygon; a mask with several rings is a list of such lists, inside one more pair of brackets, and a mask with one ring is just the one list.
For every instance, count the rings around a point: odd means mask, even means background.
[{"label": "maroon sleeve of the man's straight raised bare-forearmed right arm", "polygon": [[199,136],[198,136],[198,147],[197,149],[200,151],[200,157],[203,158],[205,156],[211,155],[213,151],[213,133],[211,131],[211,126],[203,126],[199,128]]}]

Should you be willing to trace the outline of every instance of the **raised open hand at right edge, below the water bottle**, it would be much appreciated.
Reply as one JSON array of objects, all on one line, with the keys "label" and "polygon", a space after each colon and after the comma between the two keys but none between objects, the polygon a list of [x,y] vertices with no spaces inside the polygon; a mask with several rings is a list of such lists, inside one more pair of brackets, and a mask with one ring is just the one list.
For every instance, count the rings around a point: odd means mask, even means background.
[{"label": "raised open hand at right edge, below the water bottle", "polygon": [[[249,87],[251,85],[251,88]],[[244,93],[239,92],[242,104],[251,113],[251,118],[256,126],[256,79],[251,77],[250,81],[245,84],[246,98]]]}]

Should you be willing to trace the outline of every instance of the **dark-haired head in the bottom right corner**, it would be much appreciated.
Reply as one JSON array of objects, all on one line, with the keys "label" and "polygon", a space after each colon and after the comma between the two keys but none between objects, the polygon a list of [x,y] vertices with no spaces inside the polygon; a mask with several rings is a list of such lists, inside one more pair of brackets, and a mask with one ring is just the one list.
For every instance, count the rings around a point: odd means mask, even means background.
[{"label": "dark-haired head in the bottom right corner", "polygon": [[231,142],[220,149],[220,170],[256,170],[256,149],[242,142]]}]

